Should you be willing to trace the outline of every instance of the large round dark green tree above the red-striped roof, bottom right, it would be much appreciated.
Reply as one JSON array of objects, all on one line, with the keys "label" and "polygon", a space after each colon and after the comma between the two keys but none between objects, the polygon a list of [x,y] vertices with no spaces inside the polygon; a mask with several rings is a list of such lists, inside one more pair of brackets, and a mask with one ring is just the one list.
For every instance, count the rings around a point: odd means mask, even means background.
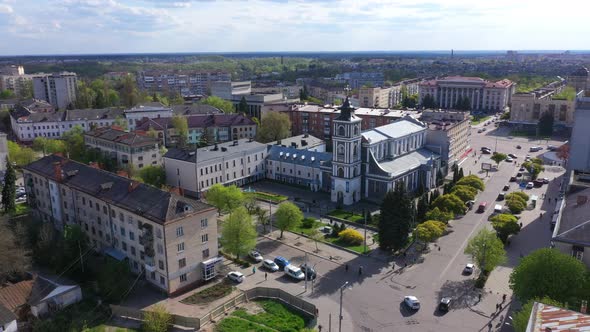
[{"label": "large round dark green tree above the red-striped roof, bottom right", "polygon": [[575,257],[542,248],[520,260],[510,274],[510,288],[522,302],[548,296],[572,303],[584,293],[587,272],[584,263]]}]

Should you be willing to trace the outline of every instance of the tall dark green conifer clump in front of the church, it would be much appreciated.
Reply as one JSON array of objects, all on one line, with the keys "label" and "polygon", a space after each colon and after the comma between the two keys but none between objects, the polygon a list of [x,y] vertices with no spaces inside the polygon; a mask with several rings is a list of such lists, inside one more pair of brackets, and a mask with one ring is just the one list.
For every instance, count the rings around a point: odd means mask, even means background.
[{"label": "tall dark green conifer clump in front of the church", "polygon": [[413,203],[403,182],[385,194],[379,218],[379,247],[384,250],[402,249],[408,242],[414,220]]}]

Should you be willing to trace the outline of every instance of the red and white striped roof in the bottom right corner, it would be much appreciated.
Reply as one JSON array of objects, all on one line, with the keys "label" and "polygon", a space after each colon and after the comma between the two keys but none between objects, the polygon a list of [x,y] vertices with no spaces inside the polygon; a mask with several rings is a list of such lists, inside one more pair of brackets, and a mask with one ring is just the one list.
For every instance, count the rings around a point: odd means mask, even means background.
[{"label": "red and white striped roof in the bottom right corner", "polygon": [[589,330],[590,315],[535,302],[526,332]]}]

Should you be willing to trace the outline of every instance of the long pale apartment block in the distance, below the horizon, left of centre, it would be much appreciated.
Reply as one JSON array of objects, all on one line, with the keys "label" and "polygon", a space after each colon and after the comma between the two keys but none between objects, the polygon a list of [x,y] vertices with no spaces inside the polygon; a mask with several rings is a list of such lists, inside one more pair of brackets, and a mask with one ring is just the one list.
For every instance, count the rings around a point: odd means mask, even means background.
[{"label": "long pale apartment block in the distance, below the horizon, left of centre", "polygon": [[140,71],[137,85],[141,90],[182,96],[209,94],[211,83],[231,81],[231,74],[222,71]]}]

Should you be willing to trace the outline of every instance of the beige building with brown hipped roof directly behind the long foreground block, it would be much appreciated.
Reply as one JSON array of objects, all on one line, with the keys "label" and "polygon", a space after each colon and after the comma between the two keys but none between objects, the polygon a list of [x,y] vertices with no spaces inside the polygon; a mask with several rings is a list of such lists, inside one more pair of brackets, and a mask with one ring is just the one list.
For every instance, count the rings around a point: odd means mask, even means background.
[{"label": "beige building with brown hipped roof directly behind the long foreground block", "polygon": [[119,166],[142,169],[162,165],[158,139],[135,132],[114,127],[97,128],[84,134],[84,144],[116,160]]}]

